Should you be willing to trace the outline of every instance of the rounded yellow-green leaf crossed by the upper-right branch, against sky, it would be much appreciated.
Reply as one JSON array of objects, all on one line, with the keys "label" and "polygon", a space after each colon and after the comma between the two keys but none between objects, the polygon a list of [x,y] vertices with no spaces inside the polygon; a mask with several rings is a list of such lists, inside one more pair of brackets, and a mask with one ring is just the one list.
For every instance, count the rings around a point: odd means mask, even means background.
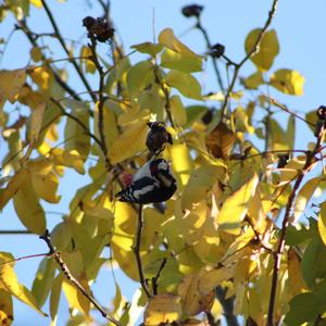
[{"label": "rounded yellow-green leaf crossed by the upper-right branch, against sky", "polygon": [[[244,48],[246,52],[249,53],[261,34],[261,28],[253,29],[249,33],[246,38]],[[251,61],[256,65],[262,72],[268,71],[273,65],[275,57],[278,54],[279,46],[276,32],[274,29],[268,30],[263,36],[259,51],[251,57]]]}]

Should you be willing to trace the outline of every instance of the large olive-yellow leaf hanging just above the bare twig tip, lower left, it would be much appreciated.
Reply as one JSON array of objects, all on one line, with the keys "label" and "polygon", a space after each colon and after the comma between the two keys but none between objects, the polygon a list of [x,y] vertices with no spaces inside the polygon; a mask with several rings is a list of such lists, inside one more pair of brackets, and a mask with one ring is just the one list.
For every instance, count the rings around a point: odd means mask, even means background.
[{"label": "large olive-yellow leaf hanging just above the bare twig tip, lower left", "polygon": [[30,186],[30,178],[24,178],[13,203],[21,222],[34,234],[43,235],[46,231],[46,214]]}]

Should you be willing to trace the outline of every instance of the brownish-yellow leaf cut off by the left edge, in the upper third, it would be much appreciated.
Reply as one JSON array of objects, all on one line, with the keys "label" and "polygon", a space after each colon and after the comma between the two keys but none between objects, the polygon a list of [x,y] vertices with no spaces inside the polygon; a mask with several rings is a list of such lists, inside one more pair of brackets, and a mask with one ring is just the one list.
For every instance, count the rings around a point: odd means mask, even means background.
[{"label": "brownish-yellow leaf cut off by the left edge, in the upper third", "polygon": [[0,71],[0,99],[14,103],[26,79],[25,70]]}]

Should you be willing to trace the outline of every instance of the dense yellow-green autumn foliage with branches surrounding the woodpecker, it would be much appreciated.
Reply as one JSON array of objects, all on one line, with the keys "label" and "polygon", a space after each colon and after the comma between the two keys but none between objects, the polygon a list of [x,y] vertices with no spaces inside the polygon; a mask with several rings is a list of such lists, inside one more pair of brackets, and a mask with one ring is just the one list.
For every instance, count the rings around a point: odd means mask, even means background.
[{"label": "dense yellow-green autumn foliage with branches surrounding the woodpecker", "polygon": [[[2,324],[14,319],[15,297],[54,325],[61,292],[71,308],[68,325],[90,325],[97,310],[110,324],[134,325],[142,309],[145,325],[217,325],[223,314],[229,325],[238,316],[248,325],[325,323],[326,203],[311,199],[325,189],[326,108],[302,117],[267,96],[269,88],[301,96],[304,85],[297,71],[273,70],[280,50],[277,32],[269,29],[276,4],[265,25],[248,34],[239,63],[222,45],[210,43],[199,5],[184,14],[205,37],[205,55],[171,28],[161,30],[156,42],[135,45],[125,54],[105,5],[104,20],[84,22],[88,38],[74,47],[61,35],[47,1],[0,7],[1,20],[15,16],[15,30],[30,42],[32,60],[28,66],[0,71],[7,143],[0,209],[12,201],[26,229],[50,249],[32,289],[18,281],[13,255],[0,252]],[[29,29],[30,5],[50,18],[51,37],[65,51],[68,68],[41,46],[46,35]],[[103,48],[111,49],[111,58],[101,55]],[[133,63],[135,52],[142,60]],[[213,62],[210,73],[221,88],[209,95],[196,74],[204,60]],[[240,77],[248,61],[256,71]],[[230,75],[227,87],[221,66]],[[86,92],[73,89],[70,70]],[[288,113],[286,129],[278,110]],[[312,131],[303,149],[294,148],[297,118]],[[173,136],[161,155],[172,162],[178,187],[166,205],[138,211],[114,195],[147,161],[150,121],[165,122]],[[55,208],[66,196],[58,189],[67,168],[87,183],[70,188],[75,192],[70,212],[49,235],[45,206]],[[103,254],[106,247],[110,258]],[[131,302],[118,279],[111,306],[103,310],[93,300],[91,284],[105,264],[139,283]],[[47,300],[50,311],[43,312]]]}]

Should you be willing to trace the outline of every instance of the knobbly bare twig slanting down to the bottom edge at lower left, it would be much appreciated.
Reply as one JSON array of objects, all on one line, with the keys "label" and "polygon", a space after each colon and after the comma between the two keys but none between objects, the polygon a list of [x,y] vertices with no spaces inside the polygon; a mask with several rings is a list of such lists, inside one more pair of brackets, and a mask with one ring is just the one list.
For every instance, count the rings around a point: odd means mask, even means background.
[{"label": "knobbly bare twig slanting down to the bottom edge at lower left", "polygon": [[46,243],[48,244],[48,247],[49,247],[48,254],[52,255],[54,258],[54,260],[57,261],[58,265],[60,266],[62,273],[66,277],[66,279],[68,279],[97,308],[97,310],[102,314],[102,316],[104,318],[109,319],[114,325],[120,326],[121,325],[120,322],[116,321],[115,318],[111,317],[104,311],[104,309],[96,301],[96,299],[90,293],[88,293],[87,290],[83,287],[83,285],[72,275],[67,265],[62,260],[60,252],[55,251],[55,249],[51,242],[49,231],[46,230],[46,233],[42,236],[40,236],[39,238],[42,239],[43,241],[46,241]]}]

